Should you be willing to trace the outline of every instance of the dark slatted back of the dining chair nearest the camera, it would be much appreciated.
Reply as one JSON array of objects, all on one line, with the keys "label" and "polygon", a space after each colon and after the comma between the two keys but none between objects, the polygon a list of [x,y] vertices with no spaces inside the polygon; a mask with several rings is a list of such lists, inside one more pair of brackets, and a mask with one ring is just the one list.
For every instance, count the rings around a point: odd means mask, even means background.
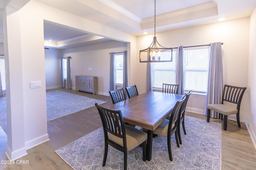
[{"label": "dark slatted back of the dining chair nearest the camera", "polygon": [[124,119],[120,110],[106,109],[98,104],[95,104],[102,120],[104,135],[107,132],[120,138],[125,138]]}]

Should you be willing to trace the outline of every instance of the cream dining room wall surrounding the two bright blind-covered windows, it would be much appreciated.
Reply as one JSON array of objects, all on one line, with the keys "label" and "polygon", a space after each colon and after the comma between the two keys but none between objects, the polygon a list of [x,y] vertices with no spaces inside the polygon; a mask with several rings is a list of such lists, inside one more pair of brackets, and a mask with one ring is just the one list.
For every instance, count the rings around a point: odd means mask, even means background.
[{"label": "cream dining room wall surrounding the two bright blind-covered windows", "polygon": [[[249,51],[249,23],[250,18],[222,21],[218,23],[176,29],[172,31],[157,32],[156,37],[164,47],[178,47],[180,45],[206,45],[222,42],[224,84],[244,86],[248,84],[248,51]],[[154,35],[137,37],[137,51],[150,45]],[[146,63],[139,63],[137,55],[136,84],[140,93],[146,92]],[[246,90],[242,104],[240,120],[245,122],[249,110],[249,91]],[[203,114],[205,111],[205,96],[191,95],[188,100],[188,111]],[[228,116],[236,120],[235,115]]]}]

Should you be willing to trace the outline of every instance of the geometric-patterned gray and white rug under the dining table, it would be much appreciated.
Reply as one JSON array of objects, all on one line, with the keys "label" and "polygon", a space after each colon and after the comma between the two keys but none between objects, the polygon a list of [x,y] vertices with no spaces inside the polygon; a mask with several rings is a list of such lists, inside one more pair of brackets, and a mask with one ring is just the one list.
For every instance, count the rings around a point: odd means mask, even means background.
[{"label": "geometric-patterned gray and white rug under the dining table", "polygon": [[[142,149],[128,152],[129,170],[220,170],[221,124],[185,117],[187,135],[182,131],[182,145],[177,147],[172,136],[172,157],[169,160],[167,137],[153,138],[152,159],[142,160]],[[182,128],[181,128],[182,129]],[[120,170],[124,168],[123,153],[108,147],[106,165],[102,167],[104,134],[102,127],[55,151],[75,170]]]}]

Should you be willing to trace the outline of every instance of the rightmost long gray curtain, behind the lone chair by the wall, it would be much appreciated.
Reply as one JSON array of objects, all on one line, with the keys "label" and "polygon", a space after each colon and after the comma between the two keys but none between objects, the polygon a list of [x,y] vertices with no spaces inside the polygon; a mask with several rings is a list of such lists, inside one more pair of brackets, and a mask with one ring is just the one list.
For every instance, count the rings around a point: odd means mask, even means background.
[{"label": "rightmost long gray curtain, behind the lone chair by the wall", "polygon": [[[210,43],[209,69],[208,69],[208,86],[206,95],[207,115],[208,104],[221,104],[223,91],[223,68],[222,68],[222,49],[221,43]],[[211,111],[210,117],[220,118],[220,114]]]}]

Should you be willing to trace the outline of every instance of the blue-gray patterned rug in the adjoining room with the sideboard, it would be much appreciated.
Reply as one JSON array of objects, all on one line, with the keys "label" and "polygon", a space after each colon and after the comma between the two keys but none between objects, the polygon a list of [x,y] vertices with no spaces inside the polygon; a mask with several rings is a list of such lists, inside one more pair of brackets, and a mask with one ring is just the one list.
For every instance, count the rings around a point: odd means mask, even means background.
[{"label": "blue-gray patterned rug in the adjoining room with the sideboard", "polygon": [[[103,104],[105,101],[80,96],[60,90],[46,92],[47,121],[69,115],[95,106],[94,104]],[[6,120],[6,98],[0,98],[0,124],[7,132]]]}]

